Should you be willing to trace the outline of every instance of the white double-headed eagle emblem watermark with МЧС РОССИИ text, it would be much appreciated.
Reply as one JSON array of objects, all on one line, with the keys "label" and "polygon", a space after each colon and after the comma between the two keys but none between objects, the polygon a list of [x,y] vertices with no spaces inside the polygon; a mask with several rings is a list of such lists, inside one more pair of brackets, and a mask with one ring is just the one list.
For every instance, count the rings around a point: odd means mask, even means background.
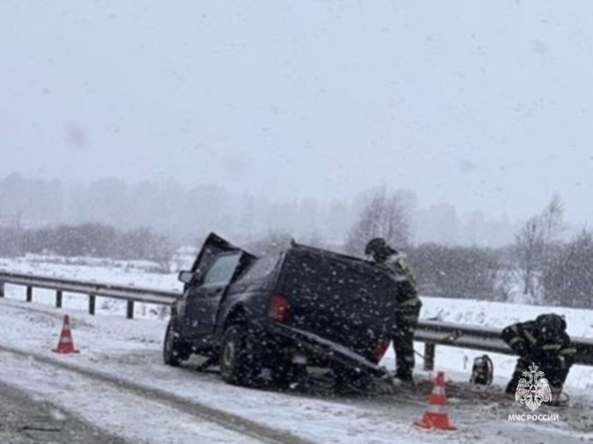
[{"label": "white double-headed eagle emblem watermark with \u041c\u0427\u0421 \u0420\u041e\u0421\u0421\u0418\u0418 text", "polygon": [[[529,371],[522,373],[525,378],[519,379],[517,391],[515,391],[515,402],[525,404],[531,411],[537,410],[541,403],[549,403],[552,400],[550,384],[543,371],[538,371],[538,366],[531,363]],[[557,414],[514,414],[509,415],[509,421],[557,421]]]}]

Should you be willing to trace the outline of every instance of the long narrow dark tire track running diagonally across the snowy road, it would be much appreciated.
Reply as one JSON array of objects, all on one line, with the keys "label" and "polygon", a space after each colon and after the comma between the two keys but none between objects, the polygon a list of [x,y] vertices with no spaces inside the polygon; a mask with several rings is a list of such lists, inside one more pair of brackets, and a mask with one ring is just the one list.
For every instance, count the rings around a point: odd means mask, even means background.
[{"label": "long narrow dark tire track running diagonally across the snowy road", "polygon": [[39,353],[31,353],[26,350],[21,350],[11,346],[1,345],[0,350],[14,355],[23,356],[25,358],[33,358],[38,362],[42,362],[51,366],[64,369],[66,371],[75,372],[87,378],[97,379],[107,384],[115,385],[119,389],[127,390],[135,395],[144,398],[149,398],[151,401],[165,404],[173,407],[176,410],[196,416],[206,422],[217,424],[225,429],[233,432],[246,435],[262,442],[273,444],[311,444],[310,440],[295,436],[292,433],[283,430],[272,429],[262,424],[256,423],[252,420],[245,419],[227,411],[218,410],[206,406],[197,401],[190,401],[177,395],[171,394],[158,388],[148,387],[136,382],[127,381],[123,378],[117,378],[113,375],[106,374],[101,371],[95,371],[87,368],[79,367],[71,363],[62,362],[55,358],[40,355]]}]

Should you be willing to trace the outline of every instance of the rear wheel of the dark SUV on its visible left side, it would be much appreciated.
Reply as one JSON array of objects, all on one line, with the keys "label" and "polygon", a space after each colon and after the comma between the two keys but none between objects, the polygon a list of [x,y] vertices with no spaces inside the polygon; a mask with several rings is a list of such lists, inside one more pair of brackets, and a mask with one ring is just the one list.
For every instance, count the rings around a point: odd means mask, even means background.
[{"label": "rear wheel of the dark SUV on its visible left side", "polygon": [[244,327],[233,325],[225,330],[219,356],[221,376],[225,382],[253,385],[257,375],[252,340]]}]

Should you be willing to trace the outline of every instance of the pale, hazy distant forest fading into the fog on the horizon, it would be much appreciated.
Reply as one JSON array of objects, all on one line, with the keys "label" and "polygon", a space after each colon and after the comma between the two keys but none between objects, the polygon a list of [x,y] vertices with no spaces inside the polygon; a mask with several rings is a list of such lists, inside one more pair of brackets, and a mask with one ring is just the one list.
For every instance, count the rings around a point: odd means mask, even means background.
[{"label": "pale, hazy distant forest fading into the fog on the horizon", "polygon": [[[86,182],[0,176],[0,226],[44,227],[101,222],[129,230],[149,226],[176,243],[188,244],[210,231],[241,242],[280,231],[298,237],[321,236],[340,244],[369,199],[362,190],[352,198],[317,197],[277,200],[266,195],[212,184],[182,185],[167,181],[127,182],[99,178]],[[480,211],[458,213],[454,205],[420,206],[412,191],[401,191],[413,219],[417,242],[470,245],[512,240],[515,222],[492,219]]]}]

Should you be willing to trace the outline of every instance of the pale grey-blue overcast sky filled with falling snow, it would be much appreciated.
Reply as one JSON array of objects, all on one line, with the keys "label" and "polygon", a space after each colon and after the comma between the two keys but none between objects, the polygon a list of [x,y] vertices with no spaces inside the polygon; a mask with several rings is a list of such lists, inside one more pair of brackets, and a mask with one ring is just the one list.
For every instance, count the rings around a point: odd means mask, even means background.
[{"label": "pale grey-blue overcast sky filled with falling snow", "polygon": [[593,222],[593,2],[0,1],[0,176]]}]

